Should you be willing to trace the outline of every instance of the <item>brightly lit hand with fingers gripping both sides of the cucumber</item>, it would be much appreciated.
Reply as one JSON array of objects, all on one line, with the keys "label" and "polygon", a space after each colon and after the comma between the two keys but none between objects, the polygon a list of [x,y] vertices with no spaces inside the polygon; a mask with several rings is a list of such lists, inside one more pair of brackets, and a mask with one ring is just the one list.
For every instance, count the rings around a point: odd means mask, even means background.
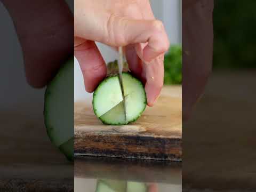
[{"label": "brightly lit hand with fingers gripping both sides of the cucumber", "polygon": [[169,49],[169,39],[149,1],[76,0],[74,22],[75,57],[86,91],[93,92],[107,73],[94,41],[125,46],[129,68],[145,83],[148,106],[153,106],[163,86],[164,53]]}]

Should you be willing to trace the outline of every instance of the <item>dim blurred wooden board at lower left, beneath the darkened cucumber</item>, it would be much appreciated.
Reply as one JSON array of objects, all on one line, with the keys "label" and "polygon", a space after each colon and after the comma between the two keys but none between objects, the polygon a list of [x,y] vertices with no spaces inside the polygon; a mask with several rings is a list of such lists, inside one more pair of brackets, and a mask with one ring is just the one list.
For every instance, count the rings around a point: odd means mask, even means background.
[{"label": "dim blurred wooden board at lower left, beneath the darkened cucumber", "polygon": [[47,137],[42,110],[5,110],[0,122],[0,191],[74,191],[74,165]]}]

